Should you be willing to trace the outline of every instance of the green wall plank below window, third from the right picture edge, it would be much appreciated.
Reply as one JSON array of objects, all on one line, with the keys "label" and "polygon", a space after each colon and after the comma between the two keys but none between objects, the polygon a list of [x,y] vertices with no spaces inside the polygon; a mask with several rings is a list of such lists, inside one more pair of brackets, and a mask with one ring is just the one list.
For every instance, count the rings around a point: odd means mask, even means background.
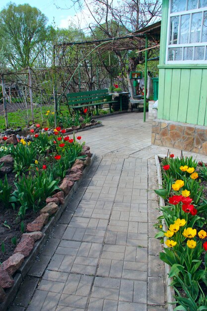
[{"label": "green wall plank below window, third from the right picture edge", "polygon": [[177,117],[178,122],[186,123],[190,75],[191,75],[190,69],[181,70],[179,108]]}]

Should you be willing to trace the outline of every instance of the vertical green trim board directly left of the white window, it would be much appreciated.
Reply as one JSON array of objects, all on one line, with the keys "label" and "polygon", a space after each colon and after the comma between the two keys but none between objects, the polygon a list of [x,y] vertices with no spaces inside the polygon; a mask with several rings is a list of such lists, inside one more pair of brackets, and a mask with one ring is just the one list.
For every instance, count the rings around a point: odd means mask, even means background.
[{"label": "vertical green trim board directly left of the white window", "polygon": [[161,23],[161,32],[160,32],[160,54],[159,54],[160,64],[165,64],[168,5],[169,5],[169,0],[162,1],[162,23]]}]

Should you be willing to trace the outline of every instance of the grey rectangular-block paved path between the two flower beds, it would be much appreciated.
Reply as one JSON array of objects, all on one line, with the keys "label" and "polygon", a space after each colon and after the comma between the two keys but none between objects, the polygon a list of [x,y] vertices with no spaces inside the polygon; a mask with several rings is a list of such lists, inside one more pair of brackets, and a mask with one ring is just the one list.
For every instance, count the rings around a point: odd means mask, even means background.
[{"label": "grey rectangular-block paved path between the two flower beds", "polygon": [[81,133],[96,160],[9,311],[167,310],[153,227],[154,155],[167,149],[150,146],[151,122],[142,118],[106,117]]}]

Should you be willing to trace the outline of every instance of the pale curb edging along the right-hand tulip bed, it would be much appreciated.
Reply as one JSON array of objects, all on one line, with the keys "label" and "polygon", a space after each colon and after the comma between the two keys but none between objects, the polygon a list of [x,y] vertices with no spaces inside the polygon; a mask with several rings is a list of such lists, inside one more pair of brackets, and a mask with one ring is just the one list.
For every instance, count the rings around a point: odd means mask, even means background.
[{"label": "pale curb edging along the right-hand tulip bed", "polygon": [[[158,188],[162,189],[162,173],[161,173],[161,168],[160,168],[160,163],[159,163],[159,157],[165,157],[163,155],[155,155],[155,165],[157,169],[157,181],[158,181]],[[160,206],[165,206],[164,199],[162,197],[159,197],[159,205]],[[160,212],[161,213],[161,212]],[[161,213],[162,214],[162,213]],[[163,230],[166,231],[166,224],[164,220],[162,221],[162,226]],[[164,237],[164,240],[166,240],[166,236]],[[171,303],[175,302],[175,299],[173,295],[175,294],[175,291],[173,290],[172,286],[170,286],[171,280],[168,277],[168,274],[170,272],[170,267],[168,264],[164,262],[165,265],[165,282],[166,282],[166,296],[167,296],[167,310],[168,311],[173,311],[173,305]]]}]

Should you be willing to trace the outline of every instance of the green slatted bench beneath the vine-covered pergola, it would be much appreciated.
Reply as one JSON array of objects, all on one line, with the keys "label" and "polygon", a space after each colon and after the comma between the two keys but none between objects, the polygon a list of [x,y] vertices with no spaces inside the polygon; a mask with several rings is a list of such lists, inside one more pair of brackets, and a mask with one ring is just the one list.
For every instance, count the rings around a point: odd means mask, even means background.
[{"label": "green slatted bench beneath the vine-covered pergola", "polygon": [[95,91],[68,93],[67,101],[69,107],[73,108],[74,110],[95,106],[97,115],[99,114],[98,106],[109,104],[109,110],[111,112],[111,105],[113,103],[117,103],[116,100],[112,100],[112,95],[108,94],[107,88]]}]

